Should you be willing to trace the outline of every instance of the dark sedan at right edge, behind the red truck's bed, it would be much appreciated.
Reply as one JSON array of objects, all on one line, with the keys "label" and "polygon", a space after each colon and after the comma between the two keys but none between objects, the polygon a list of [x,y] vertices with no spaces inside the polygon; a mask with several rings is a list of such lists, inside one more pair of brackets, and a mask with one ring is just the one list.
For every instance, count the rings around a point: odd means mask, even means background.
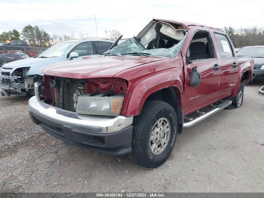
[{"label": "dark sedan at right edge, behind the red truck's bed", "polygon": [[247,46],[237,52],[237,56],[252,56],[254,59],[253,79],[264,80],[264,46]]}]

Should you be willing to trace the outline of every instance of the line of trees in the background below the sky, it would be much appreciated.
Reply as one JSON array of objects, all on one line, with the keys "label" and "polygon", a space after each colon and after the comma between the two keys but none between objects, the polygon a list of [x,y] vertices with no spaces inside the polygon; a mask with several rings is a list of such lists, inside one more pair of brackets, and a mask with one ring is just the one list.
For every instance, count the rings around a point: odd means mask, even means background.
[{"label": "line of trees in the background below the sky", "polygon": [[[232,28],[229,26],[220,29],[227,33],[235,48],[264,45],[264,30],[262,28],[256,26],[251,28]],[[106,32],[106,36],[112,39],[117,39],[120,35],[121,33],[118,30]],[[86,34],[86,36],[89,37],[88,34]],[[92,36],[95,37],[95,35]],[[79,33],[78,37],[84,38],[84,33]],[[50,47],[53,44],[74,38],[76,37],[73,32],[70,34],[64,33],[62,35],[53,33],[52,36],[50,36],[37,25],[34,27],[27,25],[22,29],[21,33],[13,29],[0,34],[0,41],[23,40],[27,41],[32,47]]]}]

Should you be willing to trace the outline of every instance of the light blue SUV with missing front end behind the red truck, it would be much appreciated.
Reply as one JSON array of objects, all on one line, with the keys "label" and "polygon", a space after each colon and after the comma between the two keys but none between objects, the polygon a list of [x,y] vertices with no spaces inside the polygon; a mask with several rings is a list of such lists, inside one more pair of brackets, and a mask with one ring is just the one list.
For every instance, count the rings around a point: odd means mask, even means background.
[{"label": "light blue SUV with missing front end behind the red truck", "polygon": [[35,95],[34,83],[42,80],[39,68],[88,56],[96,56],[107,51],[114,41],[111,39],[73,39],[56,43],[33,58],[22,59],[5,64],[0,74],[2,96]]}]

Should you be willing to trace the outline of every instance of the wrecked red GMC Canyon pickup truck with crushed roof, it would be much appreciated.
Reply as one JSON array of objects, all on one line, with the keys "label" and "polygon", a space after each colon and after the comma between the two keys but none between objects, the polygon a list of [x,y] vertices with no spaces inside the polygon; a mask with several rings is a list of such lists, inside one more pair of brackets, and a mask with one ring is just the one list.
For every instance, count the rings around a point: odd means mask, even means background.
[{"label": "wrecked red GMC Canyon pickup truck with crushed roof", "polygon": [[67,143],[154,168],[183,128],[242,105],[252,69],[221,30],[153,19],[100,57],[41,68],[29,113]]}]

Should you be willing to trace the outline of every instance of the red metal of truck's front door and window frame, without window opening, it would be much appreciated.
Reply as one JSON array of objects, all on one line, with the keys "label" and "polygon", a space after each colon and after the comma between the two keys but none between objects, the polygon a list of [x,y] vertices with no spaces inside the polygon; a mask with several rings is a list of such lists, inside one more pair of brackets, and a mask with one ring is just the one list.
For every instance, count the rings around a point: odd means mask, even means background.
[{"label": "red metal of truck's front door and window frame, without window opening", "polygon": [[[184,74],[185,74],[185,82],[184,82],[184,115],[190,114],[192,112],[195,112],[198,109],[201,109],[203,107],[206,107],[219,99],[221,99],[220,94],[220,76],[221,76],[221,68],[217,71],[213,69],[214,65],[218,65],[218,58],[217,58],[217,49],[215,47],[216,43],[214,42],[212,38],[212,33],[209,31],[208,28],[192,28],[191,31],[188,32],[190,36],[188,39],[185,40],[181,52],[182,52],[182,58],[183,58],[183,66],[184,66]],[[208,33],[210,36],[210,41],[212,44],[212,47],[215,50],[214,58],[207,58],[207,59],[199,59],[192,61],[193,63],[187,63],[186,61],[186,54],[187,50],[189,49],[189,46],[191,44],[193,36],[197,32],[205,32]],[[206,69],[202,70],[204,63],[206,64]],[[199,71],[200,67],[200,74],[201,74],[201,86],[199,85],[196,88],[190,87],[189,82],[189,75],[190,70],[192,67],[197,66],[197,70]],[[204,84],[208,84],[210,82],[213,82],[212,88],[214,90],[208,89],[208,86],[203,86]],[[192,99],[194,98],[194,99]],[[186,108],[187,107],[187,108]]]}]

